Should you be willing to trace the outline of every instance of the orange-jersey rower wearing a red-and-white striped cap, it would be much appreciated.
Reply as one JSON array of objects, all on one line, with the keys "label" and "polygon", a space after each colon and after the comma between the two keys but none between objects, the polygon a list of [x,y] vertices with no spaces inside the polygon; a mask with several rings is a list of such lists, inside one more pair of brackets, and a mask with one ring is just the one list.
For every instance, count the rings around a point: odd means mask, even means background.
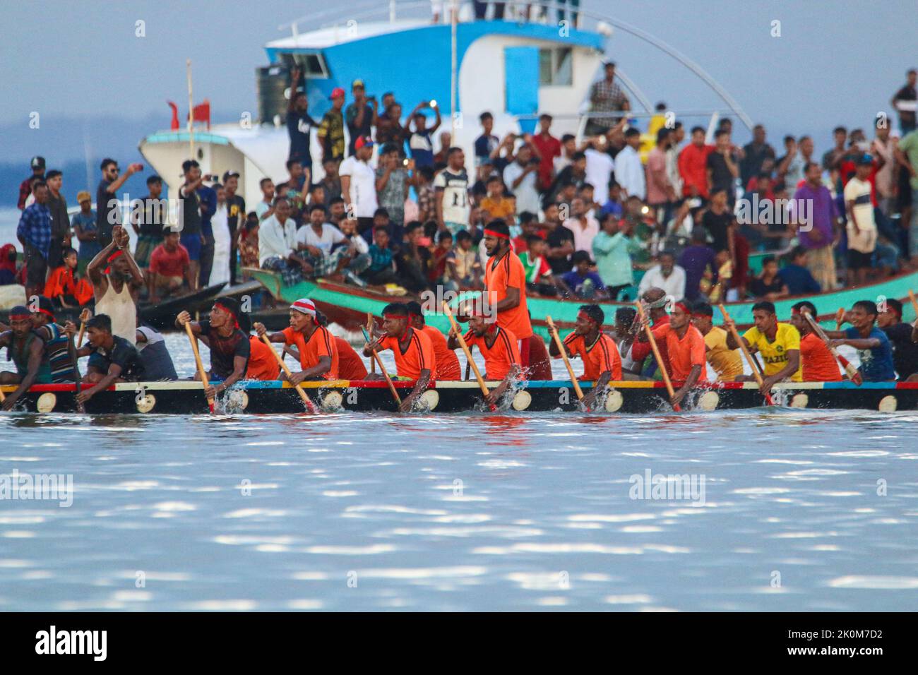
[{"label": "orange-jersey rower wearing a red-and-white striped cap", "polygon": [[[259,337],[268,333],[262,323],[255,324],[255,332]],[[285,376],[292,384],[305,379],[338,379],[338,346],[329,329],[319,323],[312,300],[301,298],[290,305],[290,326],[268,335],[268,339],[297,349],[302,370],[293,377]]]}]

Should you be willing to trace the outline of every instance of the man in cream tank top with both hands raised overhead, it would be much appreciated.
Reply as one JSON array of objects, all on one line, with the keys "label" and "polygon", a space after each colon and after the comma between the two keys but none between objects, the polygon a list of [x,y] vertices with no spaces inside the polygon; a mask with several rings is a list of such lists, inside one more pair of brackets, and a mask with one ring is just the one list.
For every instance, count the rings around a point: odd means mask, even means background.
[{"label": "man in cream tank top with both hands raised overhead", "polygon": [[[143,273],[130,253],[128,232],[123,227],[115,226],[111,242],[86,266],[86,275],[93,284],[95,313],[106,314],[112,332],[134,344]],[[93,365],[92,359],[89,365]]]}]

